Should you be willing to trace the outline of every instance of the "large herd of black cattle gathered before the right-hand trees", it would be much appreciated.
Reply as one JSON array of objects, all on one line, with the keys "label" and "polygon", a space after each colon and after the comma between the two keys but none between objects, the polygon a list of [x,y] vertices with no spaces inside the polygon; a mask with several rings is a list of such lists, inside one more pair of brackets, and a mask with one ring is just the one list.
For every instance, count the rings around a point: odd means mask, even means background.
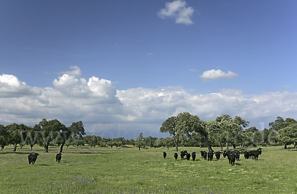
[{"label": "large herd of black cattle gathered before the right-hand trees", "polygon": [[[250,150],[250,151],[239,151],[239,150],[234,150],[234,151],[214,151],[214,150],[211,150],[211,151],[208,151],[208,152],[207,151],[200,151],[201,158],[204,159],[204,160],[207,160],[207,161],[212,161],[213,155],[215,155],[216,160],[219,160],[220,157],[221,157],[221,154],[223,154],[223,157],[224,158],[227,157],[228,160],[229,160],[229,164],[231,164],[232,166],[234,165],[235,160],[239,160],[240,153],[242,153],[242,152],[244,153],[246,159],[252,158],[252,160],[258,160],[259,155],[262,154],[262,148],[259,147],[256,150]],[[165,151],[163,151],[164,159],[166,159],[166,155],[167,155],[167,153]],[[187,160],[191,159],[191,154],[188,153],[187,150],[181,151],[180,155],[181,155],[182,160],[184,160],[185,157],[187,158]],[[174,153],[174,158],[175,158],[175,160],[177,160],[178,153]],[[192,152],[192,160],[195,161],[195,159],[196,159],[196,152],[193,151]]]}]

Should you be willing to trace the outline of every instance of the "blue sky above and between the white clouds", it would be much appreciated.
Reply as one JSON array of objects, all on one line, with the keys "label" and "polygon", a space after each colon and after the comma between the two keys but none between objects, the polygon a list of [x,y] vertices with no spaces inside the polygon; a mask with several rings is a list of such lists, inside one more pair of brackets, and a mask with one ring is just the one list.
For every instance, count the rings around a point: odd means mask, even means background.
[{"label": "blue sky above and between the white clouds", "polygon": [[[170,14],[170,8],[174,9],[172,3],[179,7]],[[281,99],[265,98],[271,103],[267,107],[288,100],[288,96],[292,97],[293,101],[286,102],[289,107],[281,105],[278,112],[261,109],[256,111],[259,115],[256,116],[255,112],[254,117],[247,116],[251,123],[257,125],[258,122],[264,122],[267,126],[277,116],[297,116],[294,113],[297,92],[296,9],[295,0],[0,1],[0,75],[13,75],[31,89],[36,87],[34,90],[42,91],[42,95],[29,92],[30,95],[22,96],[27,97],[27,100],[33,100],[32,96],[35,95],[44,96],[46,87],[58,90],[57,85],[53,84],[54,80],[61,81],[59,77],[67,71],[71,75],[71,70],[79,71],[79,76],[75,77],[78,80],[83,78],[88,81],[95,76],[110,81],[109,85],[106,82],[109,89],[115,90],[115,98],[124,105],[126,97],[120,97],[120,91],[138,88],[151,91],[166,88],[172,92],[175,90],[174,94],[183,89],[187,95],[193,96],[224,92],[230,96],[231,91],[233,96],[235,93],[241,95],[242,98],[238,97],[239,102],[242,99],[254,99],[257,102],[256,96],[263,97],[268,93],[271,94],[267,95],[269,97],[281,94]],[[184,12],[186,15],[177,23],[183,10],[189,12]],[[70,66],[76,67],[71,69]],[[210,81],[199,77],[212,69],[214,73],[218,73],[217,70],[223,73],[230,71],[236,76],[227,75],[223,79],[215,77]],[[84,82],[82,84],[84,86]],[[20,88],[7,89],[2,86],[0,89],[2,94],[11,94],[9,90],[13,90],[14,95],[17,93],[15,90],[24,93],[24,89]],[[284,97],[284,94],[287,96]],[[77,98],[77,93],[73,95],[71,98]],[[133,93],[131,95],[133,98]],[[4,101],[11,103],[12,100],[9,101],[7,95],[3,96],[5,99],[2,98],[0,102],[4,110]],[[12,99],[14,96],[9,97]],[[22,98],[19,98],[18,103],[24,105]],[[133,107],[142,103],[148,102],[140,101]],[[153,120],[152,117],[149,121],[142,118],[144,114],[136,116],[127,113],[132,110],[119,111],[123,107],[102,114],[106,120],[112,120],[113,116],[110,115],[113,114],[125,118],[128,118],[127,115],[135,116],[137,122],[132,119],[128,123],[131,124],[130,128],[137,131],[137,126],[146,125],[144,130],[152,129],[157,134],[160,122],[174,115],[187,103],[189,101],[180,105],[171,104],[174,110],[164,109],[159,119]],[[213,102],[204,103],[214,106]],[[200,114],[201,118],[209,120],[221,113],[240,115],[244,105],[240,103],[217,108],[217,112],[212,114],[193,107],[185,111]],[[156,109],[150,107],[150,111]],[[266,105],[264,107],[267,108]],[[14,113],[14,108],[5,107],[9,113],[0,119],[0,123],[25,122],[25,118],[29,117],[28,124],[32,124],[41,117],[32,110],[24,111],[20,116]],[[101,110],[106,110],[104,108],[101,107]],[[59,117],[57,119],[65,123],[70,122],[48,111],[42,116]],[[263,115],[259,113],[261,111],[271,114]],[[244,115],[249,115],[246,109],[244,112]],[[9,115],[14,115],[14,119],[5,120]],[[260,118],[255,119],[257,117]],[[83,119],[79,115],[73,118]],[[89,126],[89,131],[100,131],[97,127],[90,129],[90,126],[94,123],[100,125],[101,121],[87,120],[83,122]],[[111,121],[106,123],[113,124]],[[123,123],[119,120],[116,123],[117,130],[121,130],[118,126]],[[105,126],[104,129],[114,130],[114,126]]]}]

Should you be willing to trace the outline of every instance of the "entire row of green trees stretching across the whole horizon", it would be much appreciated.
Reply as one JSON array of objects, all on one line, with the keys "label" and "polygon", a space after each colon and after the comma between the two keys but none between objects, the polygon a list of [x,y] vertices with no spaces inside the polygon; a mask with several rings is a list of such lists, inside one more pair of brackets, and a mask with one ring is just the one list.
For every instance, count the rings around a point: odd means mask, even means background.
[{"label": "entire row of green trees stretching across the whole horizon", "polygon": [[26,126],[24,124],[0,125],[0,147],[1,150],[6,145],[13,145],[13,151],[16,151],[17,145],[22,148],[24,145],[40,145],[48,152],[49,146],[60,146],[60,152],[63,146],[73,145],[91,145],[91,147],[121,147],[124,145],[137,146],[139,149],[145,147],[173,147],[178,151],[178,146],[196,146],[208,147],[219,146],[221,150],[226,146],[233,149],[236,146],[269,146],[283,144],[294,144],[297,147],[297,121],[292,118],[277,119],[269,123],[269,129],[259,131],[255,127],[247,128],[249,122],[240,116],[232,118],[230,115],[221,114],[214,120],[203,121],[197,115],[188,112],[179,113],[177,116],[166,119],[160,132],[169,133],[170,137],[156,138],[144,137],[143,133],[136,140],[119,138],[102,138],[100,136],[85,136],[85,129],[82,121],[73,122],[69,127],[60,123],[57,119],[43,119],[35,126]]}]

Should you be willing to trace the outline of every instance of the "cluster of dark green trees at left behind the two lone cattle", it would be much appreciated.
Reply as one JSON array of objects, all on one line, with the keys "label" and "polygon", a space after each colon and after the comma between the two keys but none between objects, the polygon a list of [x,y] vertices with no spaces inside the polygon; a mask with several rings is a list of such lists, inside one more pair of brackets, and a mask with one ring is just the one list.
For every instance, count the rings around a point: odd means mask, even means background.
[{"label": "cluster of dark green trees at left behind the two lone cattle", "polygon": [[22,148],[24,145],[40,145],[49,151],[50,145],[60,146],[60,152],[67,143],[80,144],[83,136],[86,135],[82,121],[74,122],[69,127],[60,123],[57,119],[43,119],[39,124],[26,126],[24,124],[0,125],[0,147],[13,145],[16,151],[17,145]]}]

